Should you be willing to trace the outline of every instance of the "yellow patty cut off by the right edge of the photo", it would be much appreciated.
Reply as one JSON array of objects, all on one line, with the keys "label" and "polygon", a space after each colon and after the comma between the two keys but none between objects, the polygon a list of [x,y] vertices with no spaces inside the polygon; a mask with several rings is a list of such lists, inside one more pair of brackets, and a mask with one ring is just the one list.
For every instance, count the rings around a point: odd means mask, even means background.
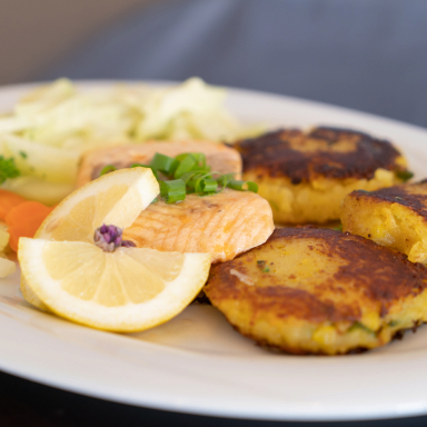
[{"label": "yellow patty cut off by the right edge of the photo", "polygon": [[342,203],[342,230],[427,264],[427,181],[352,191]]}]

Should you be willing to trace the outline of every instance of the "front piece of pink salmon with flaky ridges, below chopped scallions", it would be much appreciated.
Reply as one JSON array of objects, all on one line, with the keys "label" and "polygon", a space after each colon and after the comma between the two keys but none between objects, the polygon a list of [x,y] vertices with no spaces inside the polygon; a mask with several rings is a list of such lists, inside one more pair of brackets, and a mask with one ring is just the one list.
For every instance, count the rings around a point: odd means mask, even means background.
[{"label": "front piece of pink salmon with flaky ridges, below chopped scallions", "polygon": [[138,248],[210,252],[212,262],[227,261],[264,244],[274,230],[268,202],[250,191],[188,195],[180,203],[162,200],[141,211],[123,231]]}]

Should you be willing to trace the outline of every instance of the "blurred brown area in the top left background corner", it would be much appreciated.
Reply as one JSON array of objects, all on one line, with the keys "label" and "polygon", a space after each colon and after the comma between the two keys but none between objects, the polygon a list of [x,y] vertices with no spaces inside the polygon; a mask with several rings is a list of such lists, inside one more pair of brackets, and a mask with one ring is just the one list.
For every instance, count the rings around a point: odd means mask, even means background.
[{"label": "blurred brown area in the top left background corner", "polygon": [[117,20],[155,0],[1,0],[0,85],[37,79]]}]

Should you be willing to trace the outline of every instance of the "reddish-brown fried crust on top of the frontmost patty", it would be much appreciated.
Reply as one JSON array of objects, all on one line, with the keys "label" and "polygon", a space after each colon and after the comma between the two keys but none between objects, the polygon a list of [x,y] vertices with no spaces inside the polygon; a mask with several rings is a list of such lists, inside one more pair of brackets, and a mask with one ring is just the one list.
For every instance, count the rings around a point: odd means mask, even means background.
[{"label": "reddish-brown fried crust on top of the frontmost patty", "polygon": [[[427,288],[427,269],[421,264],[413,264],[403,254],[376,245],[350,234],[314,227],[276,229],[265,245],[275,247],[277,241],[295,239],[318,239],[317,250],[325,257],[341,259],[344,265],[327,280],[317,282],[316,291],[287,287],[286,277],[265,275],[268,286],[248,287],[230,269],[245,274],[246,262],[256,262],[257,248],[236,259],[212,266],[205,291],[212,305],[224,299],[245,299],[255,311],[274,310],[279,317],[296,317],[310,322],[356,321],[361,318],[359,300],[348,300],[346,305],[335,305],[321,298],[326,291],[346,294],[347,284],[356,284],[368,300],[380,305],[384,317],[389,308],[408,295],[418,295]],[[291,278],[294,279],[294,278]]]}]

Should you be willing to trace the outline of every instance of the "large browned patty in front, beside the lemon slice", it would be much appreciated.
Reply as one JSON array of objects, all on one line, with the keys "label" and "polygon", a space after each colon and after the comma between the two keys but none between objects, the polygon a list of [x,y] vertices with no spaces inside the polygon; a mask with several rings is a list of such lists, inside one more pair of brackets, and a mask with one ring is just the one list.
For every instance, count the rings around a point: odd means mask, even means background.
[{"label": "large browned patty in front, beside the lemon slice", "polygon": [[427,318],[427,268],[359,236],[297,227],[216,265],[205,292],[241,334],[291,354],[370,349]]}]

